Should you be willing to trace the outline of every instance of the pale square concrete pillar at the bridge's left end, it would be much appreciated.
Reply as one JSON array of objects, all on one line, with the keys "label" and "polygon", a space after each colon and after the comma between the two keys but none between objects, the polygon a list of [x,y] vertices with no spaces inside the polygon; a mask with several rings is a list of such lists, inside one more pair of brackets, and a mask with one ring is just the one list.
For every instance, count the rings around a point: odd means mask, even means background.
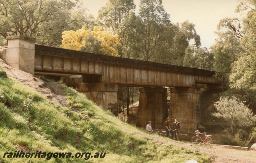
[{"label": "pale square concrete pillar at the bridge's left end", "polygon": [[24,36],[6,37],[8,48],[3,60],[13,68],[35,74],[35,38]]}]

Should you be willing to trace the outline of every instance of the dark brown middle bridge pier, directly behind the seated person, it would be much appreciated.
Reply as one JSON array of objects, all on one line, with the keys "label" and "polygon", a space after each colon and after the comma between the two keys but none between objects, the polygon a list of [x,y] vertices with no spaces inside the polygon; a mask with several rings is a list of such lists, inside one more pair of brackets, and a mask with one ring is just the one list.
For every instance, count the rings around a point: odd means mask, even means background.
[{"label": "dark brown middle bridge pier, directly behind the seated person", "polygon": [[137,126],[146,127],[150,120],[153,128],[163,128],[168,115],[166,93],[167,89],[162,87],[140,88]]}]

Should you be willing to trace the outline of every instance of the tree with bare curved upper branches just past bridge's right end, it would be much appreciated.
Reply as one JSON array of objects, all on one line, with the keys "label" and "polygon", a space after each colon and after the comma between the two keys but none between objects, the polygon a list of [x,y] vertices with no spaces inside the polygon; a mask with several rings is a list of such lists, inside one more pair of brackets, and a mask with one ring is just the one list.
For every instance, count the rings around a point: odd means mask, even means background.
[{"label": "tree with bare curved upper branches just past bridge's right end", "polygon": [[214,54],[215,77],[222,82],[222,92],[225,86],[229,86],[232,64],[239,58],[242,51],[240,40],[244,37],[241,30],[242,24],[237,18],[225,18],[220,20],[218,31],[219,37],[211,47]]}]

